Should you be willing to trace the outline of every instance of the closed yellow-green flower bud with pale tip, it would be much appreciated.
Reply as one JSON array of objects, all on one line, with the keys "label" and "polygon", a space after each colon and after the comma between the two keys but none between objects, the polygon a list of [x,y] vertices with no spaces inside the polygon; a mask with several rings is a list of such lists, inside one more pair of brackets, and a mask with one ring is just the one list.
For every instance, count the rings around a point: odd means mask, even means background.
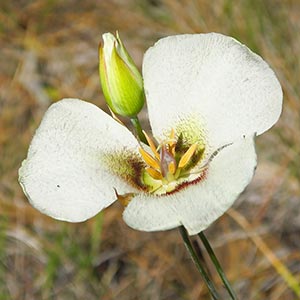
[{"label": "closed yellow-green flower bud with pale tip", "polygon": [[110,109],[124,117],[134,117],[143,108],[143,78],[125,49],[118,33],[103,34],[99,47],[102,90]]}]

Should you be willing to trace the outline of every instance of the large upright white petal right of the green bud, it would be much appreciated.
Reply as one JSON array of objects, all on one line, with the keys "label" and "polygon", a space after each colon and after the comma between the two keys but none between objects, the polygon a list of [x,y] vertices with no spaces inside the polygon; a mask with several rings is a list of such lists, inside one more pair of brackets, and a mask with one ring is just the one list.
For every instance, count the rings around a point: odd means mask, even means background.
[{"label": "large upright white petal right of the green bud", "polygon": [[143,74],[157,137],[193,115],[218,147],[263,133],[281,113],[282,90],[268,64],[221,34],[161,39],[146,52]]}]

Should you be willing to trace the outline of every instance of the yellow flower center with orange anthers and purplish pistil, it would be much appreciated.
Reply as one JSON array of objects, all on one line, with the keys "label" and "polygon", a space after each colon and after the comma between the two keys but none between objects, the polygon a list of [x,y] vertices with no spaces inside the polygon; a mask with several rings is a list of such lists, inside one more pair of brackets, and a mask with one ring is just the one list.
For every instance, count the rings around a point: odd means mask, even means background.
[{"label": "yellow flower center with orange anthers and purplish pistil", "polygon": [[170,193],[183,183],[195,180],[202,173],[203,169],[191,172],[203,156],[204,147],[199,143],[184,145],[182,136],[175,137],[173,129],[167,140],[158,145],[146,132],[144,135],[150,149],[139,149],[147,164],[142,173],[142,181],[150,193]]}]

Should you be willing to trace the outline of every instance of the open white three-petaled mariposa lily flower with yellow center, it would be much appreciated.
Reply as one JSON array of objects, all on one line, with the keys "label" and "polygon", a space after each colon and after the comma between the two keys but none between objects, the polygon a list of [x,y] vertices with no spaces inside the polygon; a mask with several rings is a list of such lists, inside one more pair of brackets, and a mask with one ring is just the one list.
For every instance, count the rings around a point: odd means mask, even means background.
[{"label": "open white three-petaled mariposa lily flower with yellow center", "polygon": [[48,109],[19,171],[33,206],[80,222],[119,199],[132,228],[196,234],[233,204],[254,173],[255,136],[281,113],[274,72],[235,39],[210,33],[159,40],[143,78],[149,145],[85,101]]}]

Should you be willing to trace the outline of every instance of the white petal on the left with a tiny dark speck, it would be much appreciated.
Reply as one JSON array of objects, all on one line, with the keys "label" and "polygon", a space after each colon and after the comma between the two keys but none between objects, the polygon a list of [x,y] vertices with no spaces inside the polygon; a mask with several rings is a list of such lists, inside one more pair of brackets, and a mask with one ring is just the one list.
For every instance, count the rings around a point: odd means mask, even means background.
[{"label": "white petal on the left with a tiny dark speck", "polygon": [[137,149],[133,135],[98,107],[64,99],[46,112],[19,181],[31,204],[43,213],[84,221],[116,200],[114,188],[120,194],[135,190],[111,172],[114,162],[104,164],[103,158],[116,150]]}]

